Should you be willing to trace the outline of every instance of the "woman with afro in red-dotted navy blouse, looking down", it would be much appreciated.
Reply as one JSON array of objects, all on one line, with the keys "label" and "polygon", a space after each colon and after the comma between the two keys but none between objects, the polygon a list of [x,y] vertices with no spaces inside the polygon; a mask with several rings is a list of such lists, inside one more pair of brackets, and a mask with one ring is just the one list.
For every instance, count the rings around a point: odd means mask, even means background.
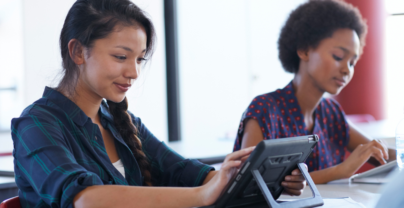
[{"label": "woman with afro in red-dotted navy blouse, looking down", "polygon": [[[343,1],[310,0],[292,11],[278,49],[284,70],[295,77],[283,89],[252,100],[234,151],[266,139],[317,134],[320,140],[305,161],[317,184],[347,178],[369,159],[385,164],[385,144],[362,135],[337,101],[323,98],[326,92],[337,95],[351,81],[366,33],[358,8]],[[351,152],[347,158],[345,150]]]}]

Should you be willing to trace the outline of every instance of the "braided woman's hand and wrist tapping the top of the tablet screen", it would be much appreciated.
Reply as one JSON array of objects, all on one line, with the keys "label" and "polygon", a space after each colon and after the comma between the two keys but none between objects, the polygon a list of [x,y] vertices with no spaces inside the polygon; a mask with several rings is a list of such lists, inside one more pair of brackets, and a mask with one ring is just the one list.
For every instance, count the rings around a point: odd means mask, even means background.
[{"label": "braided woman's hand and wrist tapping the top of the tablet screen", "polygon": [[200,187],[200,202],[205,206],[216,202],[229,180],[233,178],[241,168],[242,164],[250,156],[255,146],[235,151],[226,156],[219,172],[209,180],[208,183]]}]

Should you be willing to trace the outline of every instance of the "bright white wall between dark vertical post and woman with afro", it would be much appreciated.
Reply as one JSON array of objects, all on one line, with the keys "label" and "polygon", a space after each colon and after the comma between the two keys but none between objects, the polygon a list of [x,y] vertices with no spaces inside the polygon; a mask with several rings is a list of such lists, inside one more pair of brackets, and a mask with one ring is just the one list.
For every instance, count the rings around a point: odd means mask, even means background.
[{"label": "bright white wall between dark vertical post and woman with afro", "polygon": [[178,0],[183,140],[234,140],[260,94],[286,86],[277,41],[305,0]]}]

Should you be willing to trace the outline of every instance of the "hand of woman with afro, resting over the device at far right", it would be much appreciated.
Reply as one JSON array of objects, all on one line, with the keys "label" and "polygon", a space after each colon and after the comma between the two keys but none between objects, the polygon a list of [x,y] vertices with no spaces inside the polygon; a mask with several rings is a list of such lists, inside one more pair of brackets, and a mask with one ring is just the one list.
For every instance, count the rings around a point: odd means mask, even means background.
[{"label": "hand of woman with afro, resting over the device at far right", "polygon": [[372,140],[367,144],[359,144],[352,151],[351,155],[338,165],[338,169],[342,174],[341,178],[352,176],[370,157],[374,157],[382,165],[386,164],[386,160],[389,159],[386,145],[379,140]]}]

